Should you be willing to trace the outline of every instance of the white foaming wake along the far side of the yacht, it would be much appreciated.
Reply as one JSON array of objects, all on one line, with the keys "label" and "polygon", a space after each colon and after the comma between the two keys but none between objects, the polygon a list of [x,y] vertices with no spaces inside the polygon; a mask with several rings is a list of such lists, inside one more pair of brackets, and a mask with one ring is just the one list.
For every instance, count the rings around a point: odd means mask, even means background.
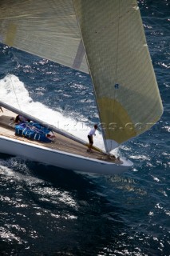
[{"label": "white foaming wake along the far side of the yacht", "polygon": [[[18,110],[31,114],[35,118],[39,118],[44,122],[56,126],[61,130],[66,130],[70,134],[87,141],[87,134],[91,127],[86,126],[83,122],[77,122],[73,118],[65,117],[59,111],[50,110],[49,107],[41,102],[34,102],[30,98],[28,90],[24,83],[14,74],[8,74],[0,81],[1,95],[0,100],[14,106]],[[97,131],[95,145],[102,150],[105,149],[101,134]]]}]

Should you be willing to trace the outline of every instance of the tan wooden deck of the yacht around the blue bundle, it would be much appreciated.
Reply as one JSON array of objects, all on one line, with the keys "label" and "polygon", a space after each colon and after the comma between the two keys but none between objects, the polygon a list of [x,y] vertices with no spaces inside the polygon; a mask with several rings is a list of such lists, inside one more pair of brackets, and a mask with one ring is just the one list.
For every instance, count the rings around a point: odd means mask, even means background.
[{"label": "tan wooden deck of the yacht around the blue bundle", "polygon": [[108,162],[118,162],[117,158],[109,159],[105,154],[93,150],[93,153],[87,152],[87,146],[81,145],[78,142],[74,142],[69,138],[65,138],[61,134],[54,133],[56,138],[54,142],[38,142],[29,138],[15,135],[14,122],[11,118],[15,118],[16,114],[3,108],[3,112],[0,112],[0,135],[6,136],[7,138],[14,138],[19,142],[30,142],[34,145],[45,146],[54,150],[61,150],[65,153],[77,154],[88,158],[94,158],[98,160],[104,160]]}]

